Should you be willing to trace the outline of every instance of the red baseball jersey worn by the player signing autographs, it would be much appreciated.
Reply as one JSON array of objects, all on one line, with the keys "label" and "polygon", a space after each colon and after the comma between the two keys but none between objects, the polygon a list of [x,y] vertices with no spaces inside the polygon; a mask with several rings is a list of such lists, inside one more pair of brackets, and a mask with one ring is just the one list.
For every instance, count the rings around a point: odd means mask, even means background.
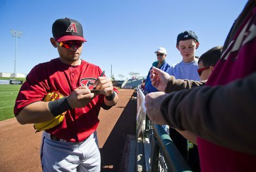
[{"label": "red baseball jersey worn by the player signing autographs", "polygon": [[[47,93],[52,91],[68,96],[79,86],[86,85],[92,89],[92,84],[101,73],[99,66],[84,60],[81,60],[81,64],[77,66],[64,64],[59,58],[40,63],[30,71],[21,86],[14,106],[14,114],[18,115],[28,104],[42,101]],[[116,88],[114,91],[118,93]],[[96,130],[102,104],[104,104],[104,96],[98,95],[84,108],[67,110],[63,122],[46,131],[67,141],[83,141]]]}]

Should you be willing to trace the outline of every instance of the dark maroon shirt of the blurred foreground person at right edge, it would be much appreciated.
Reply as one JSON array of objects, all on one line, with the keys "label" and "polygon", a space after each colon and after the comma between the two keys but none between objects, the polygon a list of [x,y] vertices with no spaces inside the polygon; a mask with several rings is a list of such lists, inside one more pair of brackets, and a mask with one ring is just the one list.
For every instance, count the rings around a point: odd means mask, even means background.
[{"label": "dark maroon shirt of the blurred foreground person at right edge", "polygon": [[[255,11],[254,8],[241,25],[206,85],[226,85],[256,71]],[[237,141],[242,142],[239,137]],[[201,171],[256,171],[256,156],[217,146],[201,138],[198,138],[198,148]]]}]

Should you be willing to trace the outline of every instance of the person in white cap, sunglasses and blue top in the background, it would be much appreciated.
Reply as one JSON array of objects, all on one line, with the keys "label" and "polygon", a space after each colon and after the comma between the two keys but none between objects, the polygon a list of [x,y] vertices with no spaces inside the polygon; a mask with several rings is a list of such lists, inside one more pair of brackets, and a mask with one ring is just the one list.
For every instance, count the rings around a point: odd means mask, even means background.
[{"label": "person in white cap, sunglasses and blue top in the background", "polygon": [[[170,68],[170,65],[165,60],[165,58],[167,56],[166,49],[163,47],[159,47],[155,51],[155,54],[156,54],[157,60],[154,63],[152,63],[152,66],[155,66],[156,68],[159,68],[162,71],[167,71],[167,69]],[[148,73],[148,76],[146,77],[146,81],[145,81],[145,91],[147,93],[159,91],[154,86],[152,86],[151,81],[150,81],[149,76],[150,76],[150,70],[152,69],[152,66],[149,69],[149,73]]]}]

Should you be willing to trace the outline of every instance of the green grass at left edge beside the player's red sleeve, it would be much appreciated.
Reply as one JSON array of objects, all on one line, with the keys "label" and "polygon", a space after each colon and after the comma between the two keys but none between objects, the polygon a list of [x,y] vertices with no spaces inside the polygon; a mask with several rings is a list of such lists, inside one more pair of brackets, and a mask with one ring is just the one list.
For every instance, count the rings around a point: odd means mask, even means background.
[{"label": "green grass at left edge beside the player's red sleeve", "polygon": [[14,117],[13,107],[21,85],[0,85],[0,121]]}]

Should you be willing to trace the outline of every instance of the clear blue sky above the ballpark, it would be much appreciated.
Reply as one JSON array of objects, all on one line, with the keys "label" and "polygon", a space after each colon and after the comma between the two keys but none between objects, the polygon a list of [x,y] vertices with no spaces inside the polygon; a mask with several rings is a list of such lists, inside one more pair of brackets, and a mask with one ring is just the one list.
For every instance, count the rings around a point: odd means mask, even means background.
[{"label": "clear blue sky above the ballpark", "polygon": [[58,57],[50,43],[51,27],[56,19],[67,17],[83,25],[88,42],[81,59],[99,65],[108,77],[111,64],[116,79],[126,79],[130,72],[146,76],[158,47],[167,49],[169,64],[181,61],[176,38],[184,30],[197,34],[197,56],[223,45],[246,2],[0,0],[0,72],[14,72],[15,38],[10,29],[23,31],[18,39],[16,72],[28,74],[36,64]]}]

